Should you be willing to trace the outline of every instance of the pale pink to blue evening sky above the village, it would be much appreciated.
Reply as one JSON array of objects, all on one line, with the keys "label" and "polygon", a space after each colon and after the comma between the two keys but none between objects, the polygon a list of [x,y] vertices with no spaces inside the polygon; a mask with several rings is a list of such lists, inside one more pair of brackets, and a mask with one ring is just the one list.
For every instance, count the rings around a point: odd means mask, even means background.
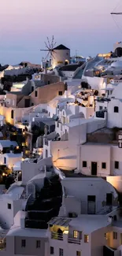
[{"label": "pale pink to blue evening sky above the village", "polygon": [[[72,54],[94,56],[122,40],[110,12],[118,0],[4,0],[0,12],[0,63],[41,63],[46,36]],[[122,4],[119,11],[122,11]],[[122,16],[116,17],[122,32]]]}]

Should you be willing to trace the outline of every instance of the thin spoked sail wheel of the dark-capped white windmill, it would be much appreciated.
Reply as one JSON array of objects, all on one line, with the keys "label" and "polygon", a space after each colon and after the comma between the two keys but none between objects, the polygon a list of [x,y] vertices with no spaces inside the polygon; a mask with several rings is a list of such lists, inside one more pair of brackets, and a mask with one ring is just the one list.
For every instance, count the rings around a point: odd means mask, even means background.
[{"label": "thin spoked sail wheel of the dark-capped white windmill", "polygon": [[43,60],[47,61],[49,57],[50,57],[50,59],[52,57],[54,58],[53,53],[56,53],[54,51],[54,46],[55,45],[56,45],[56,42],[54,42],[54,35],[52,36],[51,41],[49,40],[49,37],[47,37],[47,42],[45,42],[46,49],[40,49],[41,51],[47,52],[46,58],[43,58]]}]

